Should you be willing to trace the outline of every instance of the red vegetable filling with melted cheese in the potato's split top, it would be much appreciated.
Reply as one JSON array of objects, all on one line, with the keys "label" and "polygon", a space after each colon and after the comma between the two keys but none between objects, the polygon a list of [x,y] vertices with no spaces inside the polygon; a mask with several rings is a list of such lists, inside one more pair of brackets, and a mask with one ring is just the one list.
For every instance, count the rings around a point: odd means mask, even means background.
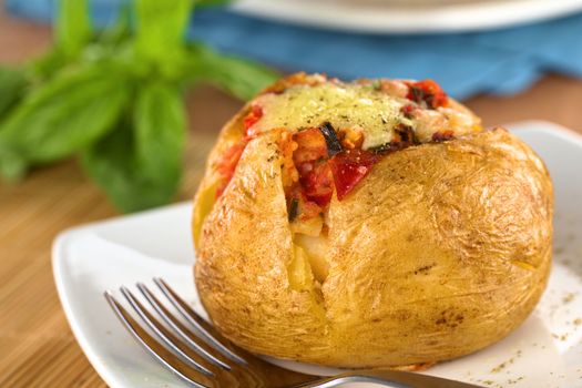
[{"label": "red vegetable filling with melted cheese in the potato's split top", "polygon": [[277,131],[289,222],[294,233],[312,237],[325,234],[333,194],[341,201],[384,155],[482,131],[479,119],[431,80],[344,84],[305,73],[265,90],[242,123],[238,139],[223,150],[215,165],[216,196],[226,188],[246,144]]}]

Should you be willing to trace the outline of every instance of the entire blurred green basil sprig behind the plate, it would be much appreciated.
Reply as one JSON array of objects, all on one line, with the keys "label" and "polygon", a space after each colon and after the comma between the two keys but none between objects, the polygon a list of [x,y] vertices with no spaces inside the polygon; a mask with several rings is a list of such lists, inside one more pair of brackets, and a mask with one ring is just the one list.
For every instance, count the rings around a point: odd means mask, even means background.
[{"label": "entire blurred green basil sprig behind the plate", "polygon": [[196,7],[224,0],[134,0],[95,31],[86,0],[61,0],[55,43],[18,69],[0,68],[0,174],[79,155],[122,211],[169,203],[187,139],[184,94],[210,82],[249,99],[277,74],[185,39]]}]

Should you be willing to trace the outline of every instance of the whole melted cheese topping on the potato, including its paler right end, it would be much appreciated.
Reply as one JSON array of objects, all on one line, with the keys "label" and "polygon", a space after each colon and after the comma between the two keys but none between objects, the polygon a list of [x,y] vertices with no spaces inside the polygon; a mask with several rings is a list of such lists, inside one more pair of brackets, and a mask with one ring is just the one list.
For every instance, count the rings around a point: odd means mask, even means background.
[{"label": "whole melted cheese topping on the potato, including its paler right end", "polygon": [[[408,88],[402,81],[390,82]],[[266,93],[254,102],[262,108],[263,116],[253,130],[256,133],[280,127],[300,130],[330,122],[336,130],[361,131],[364,150],[392,141],[399,124],[411,126],[421,143],[432,141],[432,134],[439,131],[452,131],[458,136],[482,130],[480,120],[452,100],[449,108],[428,110],[397,93],[398,88],[392,89],[382,91],[358,83],[328,82],[294,85],[278,94]],[[401,112],[404,105],[410,104],[417,106],[412,119]]]}]

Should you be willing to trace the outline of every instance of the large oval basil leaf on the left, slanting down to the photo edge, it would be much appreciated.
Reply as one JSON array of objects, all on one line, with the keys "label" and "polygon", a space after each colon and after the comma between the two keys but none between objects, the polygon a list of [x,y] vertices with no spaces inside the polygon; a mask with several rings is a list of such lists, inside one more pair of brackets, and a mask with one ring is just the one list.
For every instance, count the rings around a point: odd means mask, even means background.
[{"label": "large oval basil leaf on the left, slanting down to the photo edge", "polygon": [[88,146],[112,129],[130,88],[123,74],[102,67],[59,73],[0,125],[0,164],[52,162]]}]

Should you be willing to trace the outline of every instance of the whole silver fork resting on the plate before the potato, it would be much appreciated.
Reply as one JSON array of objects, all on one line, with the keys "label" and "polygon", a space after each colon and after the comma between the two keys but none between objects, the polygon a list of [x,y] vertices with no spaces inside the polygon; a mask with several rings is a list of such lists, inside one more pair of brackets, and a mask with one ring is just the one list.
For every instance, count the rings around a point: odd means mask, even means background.
[{"label": "whole silver fork resting on the plate before the potato", "polygon": [[120,288],[121,294],[143,321],[143,326],[113,297],[111,292],[106,290],[104,296],[118,318],[145,350],[192,387],[327,388],[355,381],[375,382],[395,388],[477,387],[397,370],[357,370],[321,377],[279,368],[224,338],[164,280],[154,278],[153,282],[178,314],[171,313],[166,304],[163,304],[143,283],[137,283],[136,287],[159,317],[145,308],[126,287]]}]

